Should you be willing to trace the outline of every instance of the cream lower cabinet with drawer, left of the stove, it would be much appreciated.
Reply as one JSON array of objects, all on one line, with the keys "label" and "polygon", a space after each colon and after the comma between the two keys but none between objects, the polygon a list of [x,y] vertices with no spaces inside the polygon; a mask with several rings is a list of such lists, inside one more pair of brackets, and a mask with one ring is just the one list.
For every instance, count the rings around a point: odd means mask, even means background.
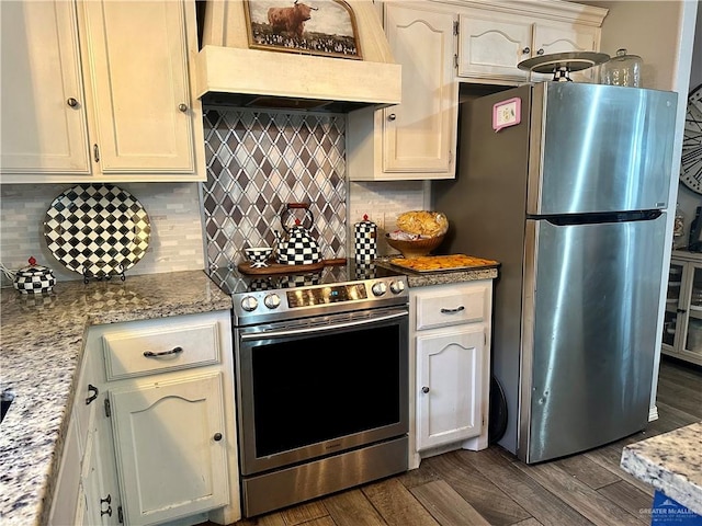
[{"label": "cream lower cabinet with drawer, left of the stove", "polygon": [[[53,524],[241,518],[231,345],[229,311],[91,327],[83,359],[92,365],[80,373],[90,390],[79,387],[73,411],[93,422],[81,496]],[[93,416],[79,418],[88,399]],[[54,506],[76,492],[75,478],[61,478]],[[82,518],[64,521],[70,514]]]}]

